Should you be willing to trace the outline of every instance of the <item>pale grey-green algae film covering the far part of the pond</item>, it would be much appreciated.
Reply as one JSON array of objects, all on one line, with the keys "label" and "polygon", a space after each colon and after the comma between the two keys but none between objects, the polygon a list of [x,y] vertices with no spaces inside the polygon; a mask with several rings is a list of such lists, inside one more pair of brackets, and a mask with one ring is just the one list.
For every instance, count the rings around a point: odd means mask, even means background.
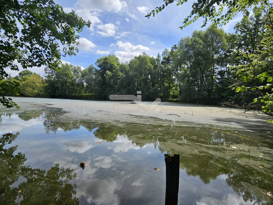
[{"label": "pale grey-green algae film covering the far part of the pond", "polygon": [[[172,124],[176,125],[194,123],[237,129],[273,130],[273,125],[268,122],[271,117],[264,113],[243,113],[238,109],[226,109],[221,106],[180,102],[160,102],[155,104],[146,101],[132,103],[128,101],[113,102],[30,97],[12,97],[12,99],[18,103],[20,109],[7,109],[0,106],[0,114],[3,112],[18,113],[31,111],[38,109],[38,107],[45,106],[67,111],[67,113],[64,114],[67,117],[92,119],[106,123],[146,123],[147,118],[152,117],[157,118],[157,121],[161,122],[170,120]],[[150,123],[150,120],[148,121]]]}]

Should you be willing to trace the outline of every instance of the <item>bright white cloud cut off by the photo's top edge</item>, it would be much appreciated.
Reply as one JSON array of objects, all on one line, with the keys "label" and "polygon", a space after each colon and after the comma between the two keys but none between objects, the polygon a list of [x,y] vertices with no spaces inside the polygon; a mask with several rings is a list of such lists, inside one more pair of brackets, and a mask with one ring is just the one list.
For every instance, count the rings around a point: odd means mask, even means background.
[{"label": "bright white cloud cut off by the photo's top edge", "polygon": [[115,13],[127,7],[127,3],[120,0],[96,0],[92,2],[90,0],[78,0],[77,5],[90,11],[113,11]]}]

